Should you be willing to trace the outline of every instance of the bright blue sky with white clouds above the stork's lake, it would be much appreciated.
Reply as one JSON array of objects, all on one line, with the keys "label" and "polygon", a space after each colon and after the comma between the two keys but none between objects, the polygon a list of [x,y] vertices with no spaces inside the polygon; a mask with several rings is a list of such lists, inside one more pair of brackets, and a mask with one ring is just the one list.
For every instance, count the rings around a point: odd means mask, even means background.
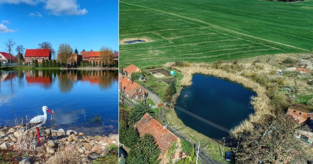
[{"label": "bright blue sky with white clouds above the stork's lake", "polygon": [[0,52],[8,39],[27,49],[49,41],[55,51],[118,50],[118,0],[0,0]]}]

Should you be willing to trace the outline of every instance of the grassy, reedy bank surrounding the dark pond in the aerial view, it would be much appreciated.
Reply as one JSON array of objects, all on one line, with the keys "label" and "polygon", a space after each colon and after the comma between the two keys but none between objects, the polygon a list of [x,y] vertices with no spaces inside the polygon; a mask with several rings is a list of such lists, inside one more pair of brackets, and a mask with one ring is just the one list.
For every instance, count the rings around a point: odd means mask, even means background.
[{"label": "grassy, reedy bank surrounding the dark pond in the aerial view", "polygon": [[[286,62],[290,58],[292,62]],[[181,85],[190,85],[192,75],[201,73],[240,83],[257,93],[257,97],[251,100],[255,113],[231,129],[232,136],[237,137],[243,131],[253,131],[253,123],[260,123],[267,115],[274,117],[284,115],[286,112],[284,109],[292,103],[312,105],[313,85],[308,84],[307,81],[313,79],[313,74],[283,71],[282,75],[276,75],[277,70],[299,67],[301,59],[313,61],[313,54],[277,54],[232,62],[192,63],[187,67],[175,66],[175,68],[184,75]],[[172,67],[173,65],[175,65],[174,62],[164,66]],[[179,93],[175,95],[174,102],[178,95]],[[200,141],[207,153],[219,161],[221,144],[185,126],[173,109],[167,108],[165,112],[167,123],[194,143]],[[230,147],[227,148],[227,150],[230,149]]]}]

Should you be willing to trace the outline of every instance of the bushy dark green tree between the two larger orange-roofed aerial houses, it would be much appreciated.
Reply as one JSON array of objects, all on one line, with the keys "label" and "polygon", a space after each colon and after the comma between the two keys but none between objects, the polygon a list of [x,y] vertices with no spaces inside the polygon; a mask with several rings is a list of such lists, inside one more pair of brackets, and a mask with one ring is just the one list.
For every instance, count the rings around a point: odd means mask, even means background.
[{"label": "bushy dark green tree between the two larger orange-roofed aerial houses", "polygon": [[129,121],[137,122],[142,118],[142,116],[145,113],[154,115],[154,112],[152,111],[148,103],[146,104],[144,104],[143,102],[137,103],[135,104],[134,109],[131,111],[131,114],[129,115]]}]

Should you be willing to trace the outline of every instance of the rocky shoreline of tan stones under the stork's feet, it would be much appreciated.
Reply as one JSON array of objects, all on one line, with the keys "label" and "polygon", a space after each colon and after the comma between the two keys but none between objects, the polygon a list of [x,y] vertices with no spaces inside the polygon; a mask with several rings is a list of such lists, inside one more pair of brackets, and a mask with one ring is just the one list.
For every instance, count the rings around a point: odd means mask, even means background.
[{"label": "rocky shoreline of tan stones under the stork's feet", "polygon": [[[77,150],[81,157],[91,160],[106,156],[110,149],[109,145],[118,146],[118,134],[108,136],[86,136],[84,133],[73,130],[52,129],[40,127],[41,143],[34,150],[33,142],[36,137],[36,129],[30,130],[24,136],[21,125],[9,127],[0,126],[0,150],[16,150],[26,153],[28,156],[20,158],[20,164],[43,164],[59,150]],[[22,138],[28,138],[22,140]],[[28,143],[25,150],[17,150],[19,145]],[[22,143],[23,142],[23,143]]]}]

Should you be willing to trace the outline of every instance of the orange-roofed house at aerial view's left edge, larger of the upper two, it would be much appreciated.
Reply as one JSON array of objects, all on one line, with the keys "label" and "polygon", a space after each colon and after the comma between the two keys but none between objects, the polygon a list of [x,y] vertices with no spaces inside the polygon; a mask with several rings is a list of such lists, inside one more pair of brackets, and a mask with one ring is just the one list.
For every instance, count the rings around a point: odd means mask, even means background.
[{"label": "orange-roofed house at aerial view's left edge, larger of the upper two", "polygon": [[141,85],[130,79],[124,78],[121,74],[119,74],[118,79],[118,91],[120,93],[125,93],[125,97],[135,101],[144,98],[144,94],[147,93],[147,91]]}]

